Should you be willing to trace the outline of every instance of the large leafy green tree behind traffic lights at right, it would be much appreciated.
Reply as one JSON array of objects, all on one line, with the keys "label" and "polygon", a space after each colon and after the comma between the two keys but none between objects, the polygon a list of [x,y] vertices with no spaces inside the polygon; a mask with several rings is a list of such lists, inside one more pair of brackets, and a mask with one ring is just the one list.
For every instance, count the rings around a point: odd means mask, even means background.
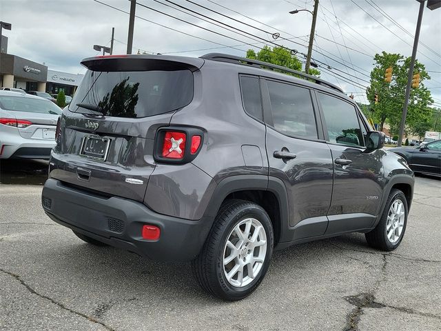
[{"label": "large leafy green tree behind traffic lights at right", "polygon": [[[407,74],[411,58],[406,58],[400,54],[382,52],[373,58],[376,63],[371,71],[370,86],[367,88],[367,99],[373,108],[373,120],[380,123],[382,130],[384,122],[389,123],[391,132],[398,133],[404,106],[404,94],[407,85]],[[392,68],[392,81],[384,81],[386,68]],[[424,86],[424,80],[430,79],[429,74],[422,63],[415,62],[413,72],[420,72],[419,88],[412,88],[407,108],[406,124],[407,132],[420,131],[420,122],[427,122],[432,116],[428,106],[433,103],[431,93]],[[378,103],[374,104],[375,94],[378,94]]]}]

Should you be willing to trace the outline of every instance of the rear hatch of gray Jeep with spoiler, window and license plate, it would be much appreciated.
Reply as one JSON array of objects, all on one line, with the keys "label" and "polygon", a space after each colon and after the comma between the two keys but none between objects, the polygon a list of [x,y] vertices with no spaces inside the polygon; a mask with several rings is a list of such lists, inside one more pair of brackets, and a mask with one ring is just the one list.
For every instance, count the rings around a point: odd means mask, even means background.
[{"label": "rear hatch of gray Jeep with spoiler, window and license plate", "polygon": [[100,194],[143,201],[156,130],[193,99],[203,60],[96,57],[63,112],[50,177]]}]

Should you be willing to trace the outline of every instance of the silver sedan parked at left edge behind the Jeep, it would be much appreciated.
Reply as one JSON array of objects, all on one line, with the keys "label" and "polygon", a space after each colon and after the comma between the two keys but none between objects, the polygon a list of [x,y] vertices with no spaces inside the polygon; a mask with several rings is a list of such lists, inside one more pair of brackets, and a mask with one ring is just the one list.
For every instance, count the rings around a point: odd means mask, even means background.
[{"label": "silver sedan parked at left edge behind the Jeep", "polygon": [[0,159],[49,159],[62,110],[48,99],[0,91]]}]

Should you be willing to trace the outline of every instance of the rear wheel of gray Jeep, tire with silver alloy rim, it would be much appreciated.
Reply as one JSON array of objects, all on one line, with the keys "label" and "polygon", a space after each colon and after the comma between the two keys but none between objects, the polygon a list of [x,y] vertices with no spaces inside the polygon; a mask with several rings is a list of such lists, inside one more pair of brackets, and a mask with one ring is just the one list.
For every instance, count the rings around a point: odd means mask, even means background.
[{"label": "rear wheel of gray Jeep, tire with silver alloy rim", "polygon": [[209,294],[227,301],[244,299],[265,277],[273,246],[267,212],[256,203],[227,200],[201,253],[192,261],[194,276]]}]

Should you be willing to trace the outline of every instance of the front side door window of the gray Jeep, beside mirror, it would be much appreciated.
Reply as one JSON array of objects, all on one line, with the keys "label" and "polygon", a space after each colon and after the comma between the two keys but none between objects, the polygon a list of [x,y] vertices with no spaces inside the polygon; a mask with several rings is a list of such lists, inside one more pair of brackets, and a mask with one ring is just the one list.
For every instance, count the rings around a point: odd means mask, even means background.
[{"label": "front side door window of the gray Jeep, beside mirror", "polygon": [[342,145],[365,146],[356,108],[327,94],[318,93],[318,99],[325,114],[329,141]]}]

